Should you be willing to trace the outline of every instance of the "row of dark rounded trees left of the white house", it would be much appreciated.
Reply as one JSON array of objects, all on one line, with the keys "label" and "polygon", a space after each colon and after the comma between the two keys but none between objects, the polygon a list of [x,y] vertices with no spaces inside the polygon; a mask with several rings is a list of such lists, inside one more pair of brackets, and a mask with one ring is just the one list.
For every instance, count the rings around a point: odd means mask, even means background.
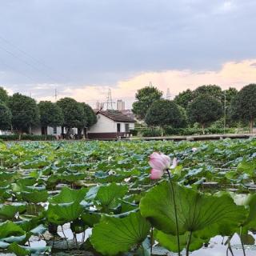
[{"label": "row of dark rounded trees left of the white house", "polygon": [[47,126],[62,126],[62,134],[66,127],[69,136],[73,127],[78,128],[78,137],[82,130],[97,122],[94,110],[84,102],[74,98],[61,98],[58,102],[41,101],[22,94],[9,96],[0,87],[0,130],[12,130],[15,133],[31,133],[31,128],[41,126],[47,134]]}]

